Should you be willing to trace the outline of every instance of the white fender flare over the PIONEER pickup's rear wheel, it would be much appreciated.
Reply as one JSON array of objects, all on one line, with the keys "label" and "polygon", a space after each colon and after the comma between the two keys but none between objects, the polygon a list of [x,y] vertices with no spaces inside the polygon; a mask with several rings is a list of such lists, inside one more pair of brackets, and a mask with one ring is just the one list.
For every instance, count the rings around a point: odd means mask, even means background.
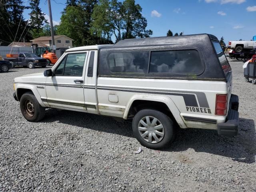
[{"label": "white fender flare over the PIONEER pickup's rear wheel", "polygon": [[[159,110],[173,118],[180,128],[187,128],[180,116],[180,111],[171,98],[156,94],[135,94],[130,98],[124,110],[124,119],[128,119],[136,113],[136,110],[151,108]],[[166,110],[167,109],[167,110]],[[135,110],[135,111],[134,111]]]}]

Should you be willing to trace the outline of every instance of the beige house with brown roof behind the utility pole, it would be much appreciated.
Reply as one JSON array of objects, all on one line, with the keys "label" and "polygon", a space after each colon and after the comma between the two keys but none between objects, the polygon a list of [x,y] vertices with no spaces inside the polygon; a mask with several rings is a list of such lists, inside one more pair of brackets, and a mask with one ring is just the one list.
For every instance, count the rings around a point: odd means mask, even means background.
[{"label": "beige house with brown roof behind the utility pole", "polygon": [[[42,36],[35,38],[31,40],[33,44],[45,44],[46,46],[52,46],[52,37],[51,36]],[[57,48],[72,48],[73,44],[72,41],[73,39],[65,36],[65,35],[54,35],[54,41],[55,41],[55,46]]]}]

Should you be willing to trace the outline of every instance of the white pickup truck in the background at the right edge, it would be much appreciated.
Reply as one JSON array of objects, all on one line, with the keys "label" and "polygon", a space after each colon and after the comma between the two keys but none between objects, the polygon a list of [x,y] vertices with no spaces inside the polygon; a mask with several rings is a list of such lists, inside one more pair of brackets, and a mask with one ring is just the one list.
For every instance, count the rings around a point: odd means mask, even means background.
[{"label": "white pickup truck in the background at the right edge", "polygon": [[237,53],[246,50],[256,49],[256,41],[230,41],[228,47],[234,49]]}]

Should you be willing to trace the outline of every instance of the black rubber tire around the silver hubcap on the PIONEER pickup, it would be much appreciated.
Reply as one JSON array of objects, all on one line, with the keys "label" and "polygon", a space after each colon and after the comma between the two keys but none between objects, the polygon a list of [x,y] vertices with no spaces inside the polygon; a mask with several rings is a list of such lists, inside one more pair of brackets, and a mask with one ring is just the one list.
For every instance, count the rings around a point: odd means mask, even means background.
[{"label": "black rubber tire around the silver hubcap on the PIONEER pickup", "polygon": [[[157,120],[162,124],[164,130],[162,132],[164,132],[164,136],[163,138],[161,138],[161,140],[159,142],[157,142],[154,139],[154,136],[152,136],[152,140],[154,140],[152,142],[148,142],[149,141],[149,135],[142,138],[141,134],[146,133],[146,131],[139,131],[139,124],[140,124],[140,120],[142,120],[143,118],[146,118],[146,116],[150,116],[151,118],[157,118]],[[153,121],[149,120],[150,123]],[[156,124],[155,124],[156,125]],[[143,127],[146,128],[146,127]],[[151,129],[153,129],[152,131],[154,131],[155,129],[150,127]],[[157,110],[152,110],[152,109],[143,109],[140,110],[133,118],[132,120],[132,131],[133,134],[135,136],[135,138],[140,142],[140,144],[142,146],[145,146],[147,148],[151,148],[151,149],[158,149],[158,148],[165,148],[168,147],[175,139],[176,136],[176,129],[174,127],[174,123],[173,121],[170,119],[170,117],[168,117],[166,114],[157,111]],[[152,132],[151,130],[148,133]],[[156,135],[156,134],[155,134]],[[147,139],[148,137],[148,141],[144,140]]]}]

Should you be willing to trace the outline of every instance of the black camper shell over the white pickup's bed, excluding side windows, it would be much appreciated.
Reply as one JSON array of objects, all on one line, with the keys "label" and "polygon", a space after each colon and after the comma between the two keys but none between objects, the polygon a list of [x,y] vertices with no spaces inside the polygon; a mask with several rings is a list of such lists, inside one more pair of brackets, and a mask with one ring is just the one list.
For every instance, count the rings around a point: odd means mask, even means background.
[{"label": "black camper shell over the white pickup's bed, excluding side windows", "polygon": [[[100,49],[98,76],[124,78],[168,78],[186,80],[214,80],[226,81],[227,73],[220,63],[219,56],[214,48],[214,42],[219,44],[218,38],[210,34],[196,34],[184,36],[166,36],[155,38],[126,39],[117,42],[112,47]],[[150,58],[152,53],[160,51],[195,50],[198,52],[202,68],[195,73],[150,73]],[[109,56],[112,53],[148,52],[148,70],[144,72],[113,72],[110,70]],[[224,52],[221,53],[226,60]],[[223,58],[222,58],[223,59]],[[230,65],[225,61],[228,68]],[[228,69],[231,71],[231,68]]]}]

